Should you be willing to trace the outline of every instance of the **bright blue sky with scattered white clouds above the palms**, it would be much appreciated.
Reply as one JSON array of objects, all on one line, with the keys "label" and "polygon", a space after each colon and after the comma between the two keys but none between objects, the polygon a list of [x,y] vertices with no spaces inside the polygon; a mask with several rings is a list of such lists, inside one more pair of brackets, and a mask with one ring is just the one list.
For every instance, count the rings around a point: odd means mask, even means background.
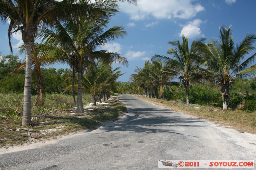
[{"label": "bright blue sky with scattered white clouds above the palms", "polygon": [[[219,37],[220,26],[232,25],[236,43],[247,33],[256,32],[255,0],[137,0],[138,5],[121,3],[122,9],[109,26],[125,27],[128,35],[106,45],[104,49],[118,52],[126,57],[129,66],[118,81],[129,81],[136,66],[143,67],[144,61],[155,54],[166,55],[168,41],[181,40],[182,34],[189,42],[200,37],[207,40]],[[7,37],[8,25],[0,25],[0,52],[10,54]],[[13,35],[12,45],[21,44],[19,35]],[[14,49],[14,55],[19,55]],[[24,55],[19,55],[24,58]],[[115,64],[114,67],[120,65]],[[65,68],[66,65],[54,65]]]}]

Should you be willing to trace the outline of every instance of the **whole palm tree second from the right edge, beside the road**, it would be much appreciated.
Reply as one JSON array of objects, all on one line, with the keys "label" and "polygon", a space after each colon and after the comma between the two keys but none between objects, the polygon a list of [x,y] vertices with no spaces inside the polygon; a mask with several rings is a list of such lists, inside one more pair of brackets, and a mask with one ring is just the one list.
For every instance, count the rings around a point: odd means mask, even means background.
[{"label": "whole palm tree second from the right edge, beside the road", "polygon": [[173,58],[162,55],[155,55],[153,57],[153,59],[160,59],[169,65],[170,71],[165,70],[165,72],[179,76],[177,78],[180,79],[185,88],[187,105],[189,105],[188,88],[191,81],[203,78],[207,75],[205,74],[207,71],[195,63],[196,59],[198,58],[198,55],[195,53],[196,44],[203,41],[205,41],[204,38],[193,41],[189,49],[188,38],[183,35],[182,43],[180,43],[179,40],[169,41],[168,43],[173,48],[170,48],[167,51],[167,54],[171,55]]}]

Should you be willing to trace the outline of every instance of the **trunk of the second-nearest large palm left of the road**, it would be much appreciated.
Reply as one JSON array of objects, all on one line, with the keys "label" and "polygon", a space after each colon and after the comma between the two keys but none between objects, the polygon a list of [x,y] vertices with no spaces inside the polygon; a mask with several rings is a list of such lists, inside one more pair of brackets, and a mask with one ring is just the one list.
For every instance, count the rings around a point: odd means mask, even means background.
[{"label": "trunk of the second-nearest large palm left of the road", "polygon": [[83,99],[82,99],[82,70],[77,70],[77,105],[76,113],[84,113]]}]

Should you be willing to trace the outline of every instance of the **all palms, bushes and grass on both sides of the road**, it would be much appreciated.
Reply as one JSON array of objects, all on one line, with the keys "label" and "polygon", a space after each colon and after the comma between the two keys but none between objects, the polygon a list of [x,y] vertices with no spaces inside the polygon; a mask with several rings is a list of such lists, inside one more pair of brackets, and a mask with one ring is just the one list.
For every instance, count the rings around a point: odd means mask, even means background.
[{"label": "all palms, bushes and grass on both sides of the road", "polygon": [[[132,82],[120,83],[116,80],[123,73],[112,64],[127,66],[127,59],[101,49],[127,34],[122,26],[108,27],[120,2],[137,1],[0,3],[1,21],[10,22],[6,34],[11,40],[12,33],[21,32],[20,53],[26,55],[24,61],[16,55],[0,59],[1,146],[115,120],[125,110],[120,102],[84,108],[108,100],[113,92],[143,95],[175,110],[255,132],[255,33],[236,44],[231,27],[220,27],[219,39],[206,43],[201,38],[191,41],[190,47],[188,38],[182,36],[181,42],[168,43],[169,56],[152,56],[143,68],[134,70]],[[69,69],[47,68],[58,63]],[[45,132],[52,128],[53,132]],[[31,136],[29,130],[38,136]]]}]

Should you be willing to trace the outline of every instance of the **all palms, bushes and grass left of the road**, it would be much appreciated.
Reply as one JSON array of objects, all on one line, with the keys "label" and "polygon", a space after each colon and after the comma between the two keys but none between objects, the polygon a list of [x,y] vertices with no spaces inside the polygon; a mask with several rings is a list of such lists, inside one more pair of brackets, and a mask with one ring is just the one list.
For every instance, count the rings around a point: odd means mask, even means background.
[{"label": "all palms, bushes and grass left of the road", "polygon": [[[127,34],[108,25],[119,3],[136,2],[1,1],[11,53],[12,33],[18,32],[24,42],[19,52],[26,57],[0,55],[0,146],[93,128],[125,111],[110,94],[122,75],[112,64],[128,61],[103,47]],[[49,68],[59,63],[69,69]]]}]

